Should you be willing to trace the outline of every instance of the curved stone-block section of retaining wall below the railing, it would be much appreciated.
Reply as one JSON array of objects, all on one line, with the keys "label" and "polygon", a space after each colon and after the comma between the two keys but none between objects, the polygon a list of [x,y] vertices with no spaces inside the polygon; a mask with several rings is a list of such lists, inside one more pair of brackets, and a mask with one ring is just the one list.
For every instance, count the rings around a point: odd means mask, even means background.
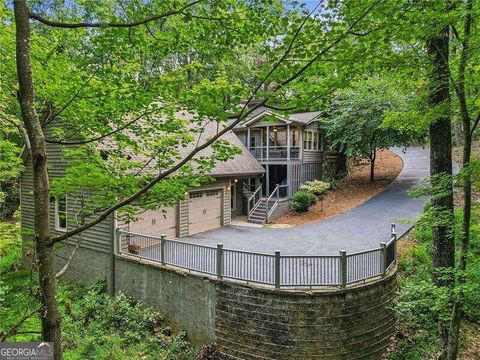
[{"label": "curved stone-block section of retaining wall below the railing", "polygon": [[393,334],[396,274],[343,291],[294,292],[221,283],[215,333],[241,359],[378,359]]}]

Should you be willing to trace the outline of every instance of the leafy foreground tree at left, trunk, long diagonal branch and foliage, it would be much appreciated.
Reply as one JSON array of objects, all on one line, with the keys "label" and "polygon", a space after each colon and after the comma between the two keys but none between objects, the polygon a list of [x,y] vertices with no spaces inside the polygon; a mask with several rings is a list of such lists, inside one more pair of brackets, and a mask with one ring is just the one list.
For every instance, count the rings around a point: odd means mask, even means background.
[{"label": "leafy foreground tree at left, trunk, long diagonal branch and foliage", "polygon": [[[255,81],[253,88],[243,81],[229,79],[223,70],[235,62],[236,54],[242,52],[245,43],[270,46],[268,40],[279,35],[279,27],[272,25],[278,24],[276,21],[282,18],[279,14],[283,14],[283,8],[279,3],[232,0],[208,4],[201,1],[157,4],[132,1],[126,5],[86,3],[85,8],[78,4],[62,8],[57,4],[61,11],[48,9],[48,13],[63,18],[51,20],[29,9],[25,1],[14,2],[18,100],[34,173],[34,243],[39,271],[42,336],[45,341],[55,342],[56,358],[61,358],[61,331],[53,246],[81,234],[128,206],[148,206],[155,197],[160,197],[162,203],[169,199],[168,196],[162,197],[164,192],[175,198],[178,189],[198,184],[199,178],[207,181],[201,175],[216,160],[225,160],[235,153],[220,140],[221,136],[249,112],[267,104],[270,98],[263,91],[288,92],[290,84],[301,80],[302,74],[313,63],[347,38],[378,3],[367,4],[344,31],[342,28],[342,31],[333,31],[331,37],[326,37],[327,45],[309,49],[311,58],[307,64],[295,67],[289,73],[283,72],[285,77],[281,82],[275,81],[272,88],[265,89],[262,86],[289,57],[309,16],[293,17],[295,20],[289,24],[292,26],[287,30],[289,35],[283,46],[271,63],[259,69],[258,78],[261,80]],[[93,20],[79,20],[77,14],[84,13],[91,14]],[[151,15],[139,20],[135,17],[139,13]],[[30,20],[47,27],[31,26]],[[65,35],[65,31],[72,29],[80,30]],[[36,59],[32,61],[32,39],[39,42],[54,40],[53,49],[43,59],[49,66],[37,63]],[[65,68],[72,71],[65,72]],[[45,76],[52,69],[55,72],[51,76],[57,83]],[[44,86],[35,87],[32,71],[40,75]],[[262,100],[247,110],[257,95],[262,95]],[[239,108],[244,99],[246,102]],[[177,111],[192,110],[195,115],[187,123],[175,115]],[[236,114],[236,120],[223,126],[232,112]],[[153,115],[157,117],[153,118]],[[154,121],[159,115],[164,121]],[[217,134],[209,139],[195,136],[201,134],[205,118],[219,124]],[[140,119],[148,121],[140,122]],[[54,122],[61,126],[55,127],[54,133],[50,134],[46,129]],[[127,130],[136,136],[131,133],[127,136],[124,133]],[[172,136],[155,136],[159,133]],[[96,149],[93,145],[106,138],[113,139],[115,147],[107,154],[108,159],[103,159],[93,151]],[[138,139],[143,141],[136,141]],[[55,183],[51,183],[47,171],[47,143],[79,147],[70,152],[70,174],[78,171],[77,175],[82,175],[85,180],[78,185],[84,186],[87,180],[92,180],[87,176],[90,172],[90,177],[96,176],[98,180],[87,183],[92,188],[117,190],[116,194],[109,192],[108,196],[92,200],[94,206],[90,206],[89,211],[95,214],[93,218],[57,236],[52,236],[49,229],[50,185]],[[188,154],[180,156],[179,148],[186,143],[196,145]],[[209,146],[214,147],[213,156],[197,156]],[[131,150],[144,151],[149,158],[156,160],[155,167],[160,171],[155,175],[145,174],[143,169],[148,164],[129,159]],[[132,171],[135,169],[137,171]],[[120,179],[119,175],[125,179]],[[57,184],[60,185],[54,194],[72,191],[65,182],[62,185],[58,181]],[[177,186],[179,184],[182,186]],[[87,218],[87,214],[84,217]]]}]

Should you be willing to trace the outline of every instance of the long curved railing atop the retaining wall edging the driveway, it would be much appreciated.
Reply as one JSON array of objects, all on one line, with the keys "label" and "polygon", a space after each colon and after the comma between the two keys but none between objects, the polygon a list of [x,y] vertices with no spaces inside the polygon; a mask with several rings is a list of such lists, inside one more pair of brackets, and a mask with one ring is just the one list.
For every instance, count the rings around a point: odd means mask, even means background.
[{"label": "long curved railing atop the retaining wall edging the driveway", "polygon": [[118,253],[156,261],[199,273],[275,286],[346,288],[351,284],[386,276],[397,259],[397,235],[378,248],[339,255],[264,254],[169,240],[118,230]]}]

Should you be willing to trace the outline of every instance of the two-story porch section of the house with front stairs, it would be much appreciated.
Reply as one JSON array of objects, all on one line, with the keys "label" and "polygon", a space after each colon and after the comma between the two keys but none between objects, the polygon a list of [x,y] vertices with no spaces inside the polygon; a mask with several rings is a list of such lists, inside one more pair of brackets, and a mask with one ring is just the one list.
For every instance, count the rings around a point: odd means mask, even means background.
[{"label": "two-story porch section of the house with front stairs", "polygon": [[[234,214],[243,213],[250,222],[264,223],[275,207],[280,206],[277,214],[286,209],[287,200],[301,184],[330,172],[335,154],[326,151],[326,141],[318,131],[316,120],[320,115],[315,111],[282,116],[259,107],[234,128],[243,145],[265,169],[260,179],[243,184],[245,208],[236,209]],[[236,191],[242,191],[239,185]]]}]

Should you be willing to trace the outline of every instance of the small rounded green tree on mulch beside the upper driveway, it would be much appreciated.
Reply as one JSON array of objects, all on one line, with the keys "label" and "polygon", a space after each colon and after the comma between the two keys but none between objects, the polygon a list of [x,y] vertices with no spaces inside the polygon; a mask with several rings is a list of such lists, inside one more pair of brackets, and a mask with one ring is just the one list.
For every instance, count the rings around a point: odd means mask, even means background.
[{"label": "small rounded green tree on mulch beside the upper driveway", "polygon": [[402,95],[379,77],[358,81],[335,94],[319,122],[332,147],[349,157],[369,159],[370,181],[375,180],[378,149],[407,145],[412,140],[410,133],[384,124],[388,112],[404,105],[401,99]]}]

